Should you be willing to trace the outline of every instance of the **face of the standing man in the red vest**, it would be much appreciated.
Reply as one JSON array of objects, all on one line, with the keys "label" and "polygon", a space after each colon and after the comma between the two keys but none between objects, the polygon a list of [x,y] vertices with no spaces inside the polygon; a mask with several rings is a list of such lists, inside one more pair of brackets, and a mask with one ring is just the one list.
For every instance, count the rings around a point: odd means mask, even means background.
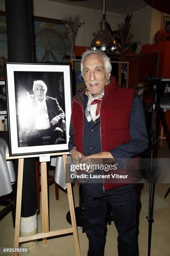
[{"label": "face of the standing man in the red vest", "polygon": [[108,84],[110,73],[106,77],[103,60],[97,54],[87,56],[83,62],[83,77],[88,90],[99,96],[104,92],[104,86]]}]

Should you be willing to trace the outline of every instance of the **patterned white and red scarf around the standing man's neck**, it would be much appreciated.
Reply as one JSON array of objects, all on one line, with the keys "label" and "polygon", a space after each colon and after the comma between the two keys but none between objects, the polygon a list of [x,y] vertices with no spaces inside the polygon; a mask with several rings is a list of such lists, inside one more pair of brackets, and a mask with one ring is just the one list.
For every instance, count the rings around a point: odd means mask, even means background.
[{"label": "patterned white and red scarf around the standing man's neck", "polygon": [[91,120],[95,122],[95,120],[100,117],[100,105],[104,93],[102,93],[100,97],[94,97],[89,91],[86,91],[86,95],[88,96],[88,102],[85,109],[85,116],[88,122]]}]

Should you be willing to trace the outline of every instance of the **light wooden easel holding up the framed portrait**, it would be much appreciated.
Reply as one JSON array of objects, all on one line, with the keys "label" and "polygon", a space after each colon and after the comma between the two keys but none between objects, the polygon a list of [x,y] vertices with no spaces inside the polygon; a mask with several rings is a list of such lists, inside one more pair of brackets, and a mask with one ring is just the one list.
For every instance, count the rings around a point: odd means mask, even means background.
[{"label": "light wooden easel holding up the framed portrait", "polygon": [[[64,161],[65,172],[67,172],[66,164],[67,164],[67,155],[69,154],[69,152],[52,153],[52,154],[46,154],[46,155],[57,156],[61,154]],[[42,244],[47,244],[47,237],[73,233],[74,243],[75,243],[75,254],[76,256],[80,256],[80,246],[79,246],[79,240],[78,240],[77,225],[75,221],[75,210],[74,210],[74,203],[72,198],[72,188],[70,183],[67,183],[67,194],[68,194],[68,202],[70,206],[72,228],[49,231],[48,196],[47,196],[47,163],[46,162],[41,162],[42,233],[37,233],[31,236],[20,237],[20,217],[21,217],[21,199],[22,199],[22,189],[23,189],[24,158],[39,157],[39,156],[41,155],[27,155],[27,156],[9,156],[9,154],[6,155],[7,160],[18,159],[18,184],[17,184],[14,248],[19,248],[19,243],[21,242],[31,241],[31,240],[40,239],[40,238],[42,238]],[[18,256],[18,252],[15,252],[14,255]]]}]

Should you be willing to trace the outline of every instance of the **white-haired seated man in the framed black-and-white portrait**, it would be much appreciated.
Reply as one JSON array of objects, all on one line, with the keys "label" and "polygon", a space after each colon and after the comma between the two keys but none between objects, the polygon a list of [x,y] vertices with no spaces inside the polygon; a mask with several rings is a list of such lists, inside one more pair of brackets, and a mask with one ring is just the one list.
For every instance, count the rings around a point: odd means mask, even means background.
[{"label": "white-haired seated man in the framed black-and-white portrait", "polygon": [[63,130],[58,127],[58,122],[64,122],[65,113],[56,99],[46,96],[47,86],[42,80],[34,81],[32,90],[34,94],[28,95],[25,102],[27,122],[23,124],[23,142],[28,146],[55,144],[58,131],[63,142]]}]

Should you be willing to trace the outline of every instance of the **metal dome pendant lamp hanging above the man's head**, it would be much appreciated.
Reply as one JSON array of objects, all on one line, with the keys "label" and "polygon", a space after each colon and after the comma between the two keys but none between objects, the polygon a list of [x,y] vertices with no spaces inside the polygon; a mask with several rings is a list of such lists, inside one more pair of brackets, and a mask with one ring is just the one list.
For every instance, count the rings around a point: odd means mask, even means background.
[{"label": "metal dome pendant lamp hanging above the man's head", "polygon": [[107,29],[107,20],[105,20],[105,0],[103,0],[102,20],[100,21],[101,29],[92,40],[90,48],[92,50],[111,51],[117,49],[115,38]]}]

